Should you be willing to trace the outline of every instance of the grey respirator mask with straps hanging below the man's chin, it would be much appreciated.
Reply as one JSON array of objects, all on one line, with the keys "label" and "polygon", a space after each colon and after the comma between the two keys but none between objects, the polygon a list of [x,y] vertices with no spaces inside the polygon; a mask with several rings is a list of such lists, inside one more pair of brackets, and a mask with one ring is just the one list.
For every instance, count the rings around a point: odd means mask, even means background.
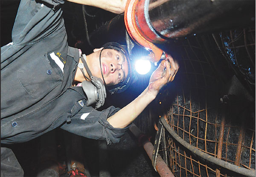
[{"label": "grey respirator mask with straps hanging below the man's chin", "polygon": [[[90,69],[85,61],[86,55],[81,55],[81,61],[83,63],[79,63],[78,67],[80,68],[81,72],[84,75],[84,78],[90,81],[83,81],[82,82],[82,88],[84,90],[84,93],[87,96],[87,102],[86,105],[90,106],[91,104],[96,103],[95,108],[99,108],[103,106],[105,103],[105,98],[107,97],[106,89],[103,81],[100,78],[94,77],[92,73],[90,72]],[[88,73],[89,78],[86,77],[84,74],[83,68],[85,67],[86,72]]]}]

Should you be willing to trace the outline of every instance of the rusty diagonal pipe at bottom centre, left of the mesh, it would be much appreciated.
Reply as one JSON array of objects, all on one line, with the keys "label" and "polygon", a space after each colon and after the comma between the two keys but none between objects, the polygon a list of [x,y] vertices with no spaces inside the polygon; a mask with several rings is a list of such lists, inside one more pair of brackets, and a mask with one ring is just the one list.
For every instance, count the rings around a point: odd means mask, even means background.
[{"label": "rusty diagonal pipe at bottom centre, left of the mesh", "polygon": [[[134,136],[136,136],[137,139],[140,140],[140,142],[143,145],[143,148],[148,154],[148,157],[152,161],[152,154],[154,149],[154,146],[152,145],[152,143],[146,138],[144,133],[141,132],[140,129],[134,123],[131,124],[131,126],[129,127],[129,130],[131,131],[131,133],[134,134]],[[175,177],[170,171],[170,169],[168,168],[168,166],[166,165],[166,163],[163,161],[162,157],[160,156],[157,157],[156,169],[161,177]]]}]

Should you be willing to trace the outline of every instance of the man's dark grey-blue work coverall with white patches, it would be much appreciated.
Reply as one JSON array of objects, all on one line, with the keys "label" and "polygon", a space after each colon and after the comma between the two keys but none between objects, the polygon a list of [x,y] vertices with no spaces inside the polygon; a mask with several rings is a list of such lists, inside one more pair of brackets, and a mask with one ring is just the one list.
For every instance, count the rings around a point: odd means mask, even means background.
[{"label": "man's dark grey-blue work coverall with white patches", "polygon": [[[21,0],[12,43],[1,47],[1,145],[26,142],[60,127],[92,139],[119,142],[127,128],[107,121],[119,108],[86,106],[72,87],[79,50],[68,46],[64,0]],[[1,176],[23,176],[9,148],[1,147]]]}]

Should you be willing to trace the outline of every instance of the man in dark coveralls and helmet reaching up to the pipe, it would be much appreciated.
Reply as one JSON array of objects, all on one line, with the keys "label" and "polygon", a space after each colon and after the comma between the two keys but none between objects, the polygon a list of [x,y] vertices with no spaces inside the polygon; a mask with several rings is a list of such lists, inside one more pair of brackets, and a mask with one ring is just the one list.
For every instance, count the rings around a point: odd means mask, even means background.
[{"label": "man in dark coveralls and helmet reaching up to the pipe", "polygon": [[[70,0],[122,13],[123,0]],[[122,108],[103,111],[86,106],[85,93],[73,82],[90,80],[78,69],[79,49],[68,46],[62,18],[64,0],[21,0],[12,42],[1,47],[1,143],[26,142],[55,128],[92,139],[119,142],[128,125],[155,99],[179,68],[171,57],[151,75],[148,87]],[[101,62],[99,55],[101,54]],[[118,49],[94,49],[85,57],[93,76],[115,92],[131,83],[128,56]],[[162,76],[163,70],[166,73]],[[87,78],[84,77],[82,70]],[[23,176],[12,150],[1,147],[1,176]]]}]

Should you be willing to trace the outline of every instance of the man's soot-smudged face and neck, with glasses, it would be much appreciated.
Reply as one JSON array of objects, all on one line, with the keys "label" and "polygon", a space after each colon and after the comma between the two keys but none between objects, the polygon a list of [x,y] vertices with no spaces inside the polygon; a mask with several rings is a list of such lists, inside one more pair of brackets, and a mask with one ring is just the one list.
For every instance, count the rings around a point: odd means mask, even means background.
[{"label": "man's soot-smudged face and neck, with glasses", "polygon": [[[102,79],[100,63],[100,50],[94,52],[94,59],[90,62],[93,76]],[[128,74],[128,61],[125,56],[114,49],[104,49],[101,53],[101,68],[107,85],[116,85],[124,81]],[[103,79],[102,79],[103,80]]]}]

